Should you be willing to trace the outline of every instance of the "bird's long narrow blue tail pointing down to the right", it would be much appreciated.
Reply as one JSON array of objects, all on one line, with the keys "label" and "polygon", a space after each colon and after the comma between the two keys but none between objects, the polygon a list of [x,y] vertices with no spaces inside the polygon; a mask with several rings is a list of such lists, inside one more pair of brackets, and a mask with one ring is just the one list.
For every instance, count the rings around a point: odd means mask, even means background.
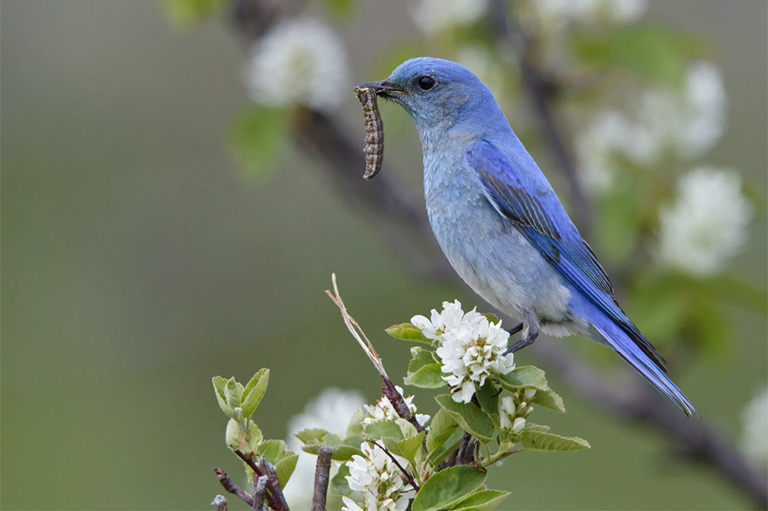
[{"label": "bird's long narrow blue tail pointing down to the right", "polygon": [[[656,390],[661,392],[675,406],[687,416],[699,415],[688,398],[672,383],[672,380],[664,374],[664,371],[646,355],[637,343],[616,323],[611,321],[602,312],[594,311],[596,317],[590,321],[592,326],[604,338],[613,350],[621,358],[629,362]],[[603,342],[601,339],[600,342]]]}]

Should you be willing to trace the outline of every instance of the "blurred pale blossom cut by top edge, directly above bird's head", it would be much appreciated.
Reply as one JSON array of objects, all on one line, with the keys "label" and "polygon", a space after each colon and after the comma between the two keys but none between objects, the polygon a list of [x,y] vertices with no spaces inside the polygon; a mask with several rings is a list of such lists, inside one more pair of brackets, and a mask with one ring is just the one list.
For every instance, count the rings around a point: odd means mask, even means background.
[{"label": "blurred pale blossom cut by top edge, directly above bird's head", "polygon": [[411,5],[411,18],[419,29],[433,34],[469,25],[488,12],[489,0],[419,0]]}]

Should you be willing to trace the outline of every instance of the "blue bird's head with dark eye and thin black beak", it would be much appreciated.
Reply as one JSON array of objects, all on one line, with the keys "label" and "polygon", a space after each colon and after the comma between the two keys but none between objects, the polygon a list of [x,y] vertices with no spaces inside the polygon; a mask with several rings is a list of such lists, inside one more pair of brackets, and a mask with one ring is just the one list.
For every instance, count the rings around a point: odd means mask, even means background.
[{"label": "blue bird's head with dark eye and thin black beak", "polygon": [[407,60],[386,80],[360,87],[371,88],[379,97],[401,105],[422,135],[449,129],[462,118],[498,110],[488,87],[469,69],[450,60]]}]

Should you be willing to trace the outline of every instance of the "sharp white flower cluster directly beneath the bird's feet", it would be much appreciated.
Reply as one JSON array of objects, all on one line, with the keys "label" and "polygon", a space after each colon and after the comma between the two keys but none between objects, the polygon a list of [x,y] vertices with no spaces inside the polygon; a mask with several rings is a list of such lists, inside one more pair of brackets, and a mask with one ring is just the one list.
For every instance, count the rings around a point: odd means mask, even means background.
[{"label": "sharp white flower cluster directly beneath the bird's feet", "polygon": [[442,312],[433,309],[431,319],[414,316],[411,323],[440,344],[436,353],[446,374],[443,380],[453,387],[456,402],[468,403],[489,375],[515,368],[513,354],[503,355],[509,332],[501,321],[491,323],[475,309],[465,314],[458,300],[443,302]]}]

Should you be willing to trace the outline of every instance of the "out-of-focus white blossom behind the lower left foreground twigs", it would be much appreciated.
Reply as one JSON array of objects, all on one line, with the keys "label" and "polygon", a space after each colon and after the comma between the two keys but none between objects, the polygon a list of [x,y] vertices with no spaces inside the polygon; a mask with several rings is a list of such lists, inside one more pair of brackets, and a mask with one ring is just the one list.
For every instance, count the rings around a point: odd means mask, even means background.
[{"label": "out-of-focus white blossom behind the lower left foreground twigs", "polygon": [[316,457],[301,450],[296,433],[304,429],[320,428],[344,437],[352,415],[365,399],[356,390],[327,388],[307,403],[304,411],[288,421],[288,447],[299,455],[291,480],[284,488],[288,504],[293,509],[309,509],[315,480]]}]

